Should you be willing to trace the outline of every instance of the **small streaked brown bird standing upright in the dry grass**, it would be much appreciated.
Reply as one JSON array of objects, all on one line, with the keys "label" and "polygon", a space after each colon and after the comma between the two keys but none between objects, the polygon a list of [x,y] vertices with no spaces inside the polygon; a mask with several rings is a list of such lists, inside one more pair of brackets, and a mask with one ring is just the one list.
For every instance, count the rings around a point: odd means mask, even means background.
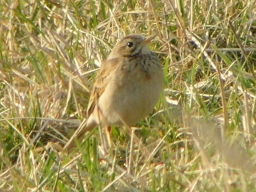
[{"label": "small streaked brown bird standing upright in the dry grass", "polygon": [[161,63],[149,48],[155,36],[127,35],[116,44],[98,71],[88,118],[80,124],[65,149],[74,146],[75,137],[81,141],[84,134],[98,124],[110,132],[111,125],[134,126],[153,111],[163,89]]}]

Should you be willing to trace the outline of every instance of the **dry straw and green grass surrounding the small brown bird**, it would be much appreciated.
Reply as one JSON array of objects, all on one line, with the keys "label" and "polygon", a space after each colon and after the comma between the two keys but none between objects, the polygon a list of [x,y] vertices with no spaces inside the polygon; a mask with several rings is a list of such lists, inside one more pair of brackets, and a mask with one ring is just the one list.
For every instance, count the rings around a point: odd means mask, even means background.
[{"label": "dry straw and green grass surrounding the small brown bird", "polygon": [[[0,190],[255,191],[254,5],[0,0]],[[130,136],[113,126],[107,157],[97,129],[64,153],[95,69],[130,33],[157,34],[155,111]]]}]

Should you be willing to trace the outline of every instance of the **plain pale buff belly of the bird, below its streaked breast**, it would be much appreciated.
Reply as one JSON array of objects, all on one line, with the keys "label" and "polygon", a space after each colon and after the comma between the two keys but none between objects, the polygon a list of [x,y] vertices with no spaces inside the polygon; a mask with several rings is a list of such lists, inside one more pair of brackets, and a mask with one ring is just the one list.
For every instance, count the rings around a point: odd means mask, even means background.
[{"label": "plain pale buff belly of the bird, below its streaked breast", "polygon": [[[150,114],[163,88],[163,73],[154,72],[150,78],[130,75],[123,83],[110,82],[99,99],[105,125],[135,125]],[[118,78],[116,78],[118,79]]]}]

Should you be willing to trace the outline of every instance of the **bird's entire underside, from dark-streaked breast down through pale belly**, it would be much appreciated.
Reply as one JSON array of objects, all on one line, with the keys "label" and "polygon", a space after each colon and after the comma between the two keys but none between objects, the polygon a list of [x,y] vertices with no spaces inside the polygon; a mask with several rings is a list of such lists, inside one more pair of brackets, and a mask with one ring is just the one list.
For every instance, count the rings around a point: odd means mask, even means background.
[{"label": "bird's entire underside, from dark-streaked breast down through pale belly", "polygon": [[134,125],[152,112],[162,88],[163,72],[157,58],[125,58],[99,104],[110,124],[118,123],[121,118],[126,124]]}]

